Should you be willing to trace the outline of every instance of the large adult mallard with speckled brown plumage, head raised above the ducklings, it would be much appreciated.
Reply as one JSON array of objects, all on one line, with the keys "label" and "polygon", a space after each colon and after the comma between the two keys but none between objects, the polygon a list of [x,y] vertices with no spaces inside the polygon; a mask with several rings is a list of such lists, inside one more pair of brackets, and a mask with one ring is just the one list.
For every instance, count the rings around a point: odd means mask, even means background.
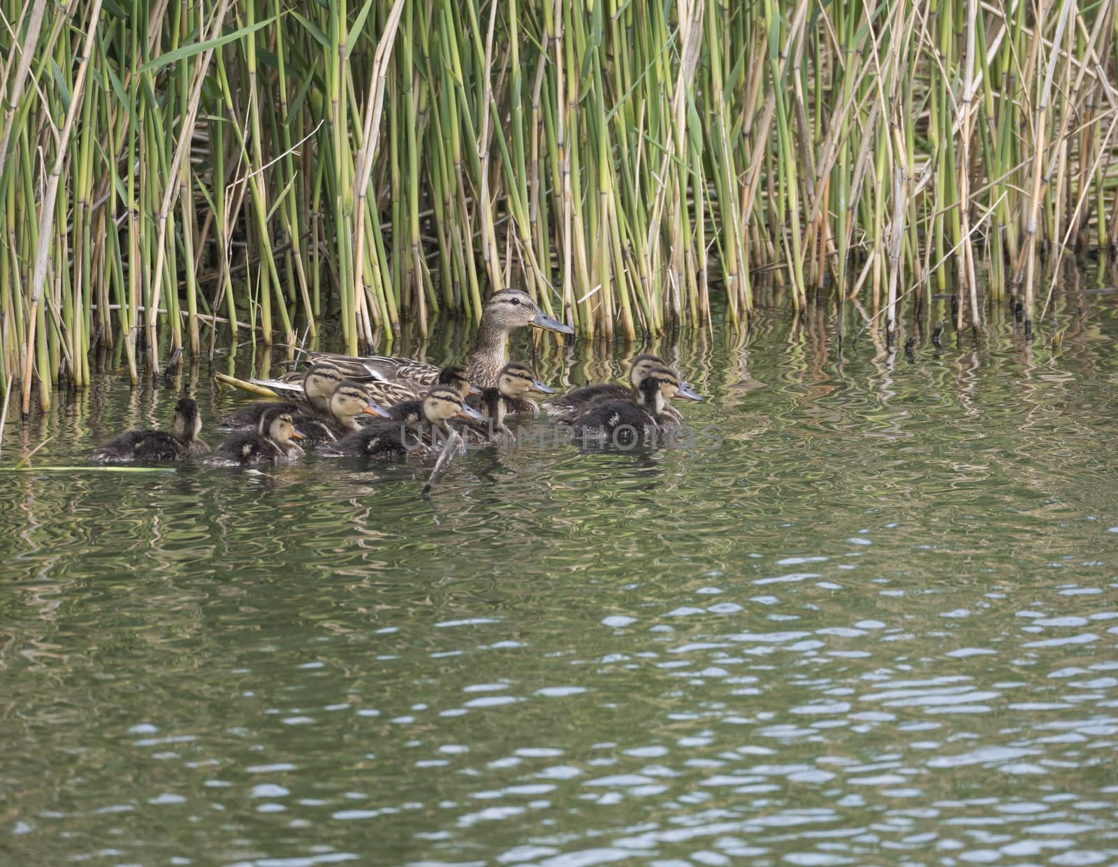
[{"label": "large adult mallard with speckled brown plumage, head raised above the ducklings", "polygon": [[[556,321],[540,310],[527,292],[519,289],[504,289],[494,292],[482,308],[477,338],[470,350],[466,377],[471,383],[479,388],[496,386],[498,374],[508,360],[509,334],[523,326],[544,328],[560,334],[575,333],[572,328]],[[370,374],[396,383],[404,383],[419,392],[430,387],[438,376],[438,367],[435,365],[400,356],[353,358],[319,352],[312,354],[312,358],[332,361],[342,366],[343,369],[347,365],[357,365]]]}]

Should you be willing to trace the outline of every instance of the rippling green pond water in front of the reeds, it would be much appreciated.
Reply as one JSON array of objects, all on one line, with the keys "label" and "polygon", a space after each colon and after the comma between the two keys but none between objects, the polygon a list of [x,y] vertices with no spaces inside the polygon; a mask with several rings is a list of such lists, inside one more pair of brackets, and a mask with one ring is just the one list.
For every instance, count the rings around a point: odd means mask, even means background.
[{"label": "rippling green pond water in front of the reeds", "polygon": [[908,358],[762,311],[653,347],[690,441],[542,420],[429,502],[429,463],[42,469],[244,400],[107,365],[4,430],[0,860],[1118,863],[1118,295]]}]

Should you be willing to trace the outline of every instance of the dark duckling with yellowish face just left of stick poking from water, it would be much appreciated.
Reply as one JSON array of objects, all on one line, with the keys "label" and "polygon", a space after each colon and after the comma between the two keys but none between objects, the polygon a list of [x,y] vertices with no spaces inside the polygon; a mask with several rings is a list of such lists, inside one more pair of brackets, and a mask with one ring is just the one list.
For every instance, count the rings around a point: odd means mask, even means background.
[{"label": "dark duckling with yellowish face just left of stick poking from water", "polygon": [[330,443],[322,450],[322,454],[368,458],[425,454],[438,445],[439,439],[449,435],[447,423],[455,416],[473,422],[485,420],[476,409],[466,406],[462,395],[446,386],[435,386],[423,400],[406,400],[405,404],[392,407],[391,422],[370,424],[359,433]]}]

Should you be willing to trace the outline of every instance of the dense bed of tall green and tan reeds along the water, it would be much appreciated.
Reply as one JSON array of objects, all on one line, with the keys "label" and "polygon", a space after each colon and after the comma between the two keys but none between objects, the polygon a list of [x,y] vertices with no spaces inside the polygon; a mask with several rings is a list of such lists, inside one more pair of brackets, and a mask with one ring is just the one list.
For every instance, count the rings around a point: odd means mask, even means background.
[{"label": "dense bed of tall green and tan reeds along the water", "polygon": [[761,285],[1029,333],[1118,242],[1116,6],[0,0],[0,383],[357,352],[506,285],[588,338]]}]

